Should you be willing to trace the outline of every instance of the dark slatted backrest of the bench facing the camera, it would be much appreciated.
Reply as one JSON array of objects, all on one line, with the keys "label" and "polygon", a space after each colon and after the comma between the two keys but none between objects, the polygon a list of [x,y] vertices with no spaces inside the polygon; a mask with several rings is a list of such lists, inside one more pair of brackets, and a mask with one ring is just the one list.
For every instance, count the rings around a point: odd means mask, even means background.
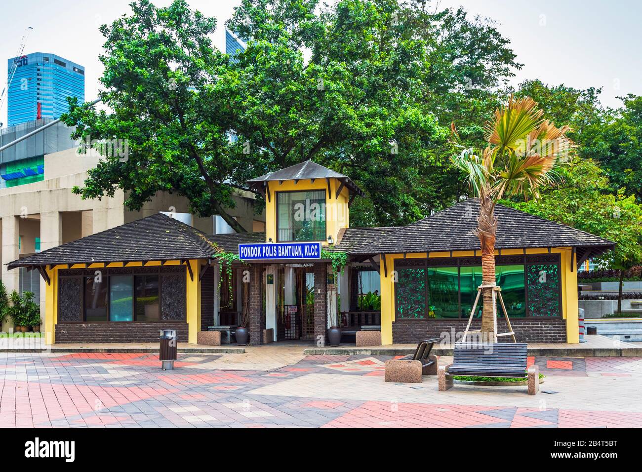
[{"label": "dark slatted backrest of the bench facing the camera", "polygon": [[453,363],[467,365],[501,365],[526,370],[528,363],[526,343],[462,343],[455,344]]}]

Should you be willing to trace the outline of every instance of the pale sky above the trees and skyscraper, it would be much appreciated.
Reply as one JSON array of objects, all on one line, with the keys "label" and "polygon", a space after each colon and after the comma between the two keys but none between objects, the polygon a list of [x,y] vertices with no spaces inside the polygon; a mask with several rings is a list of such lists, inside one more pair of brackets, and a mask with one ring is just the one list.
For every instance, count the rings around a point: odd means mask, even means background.
[{"label": "pale sky above the trees and skyscraper", "polygon": [[[130,12],[131,0],[2,1],[0,91],[6,60],[15,57],[26,28],[33,30],[24,52],[54,53],[85,66],[85,100],[94,100],[102,66],[104,38],[98,27]],[[166,6],[170,0],[155,0]],[[192,8],[218,19],[214,46],[223,48],[223,23],[240,0],[188,0]],[[473,15],[494,19],[510,39],[517,62],[525,64],[511,81],[528,78],[564,83],[576,89],[603,87],[603,105],[619,107],[617,96],[642,94],[639,0],[440,0],[440,7],[464,6]],[[6,123],[6,100],[0,110]]]}]

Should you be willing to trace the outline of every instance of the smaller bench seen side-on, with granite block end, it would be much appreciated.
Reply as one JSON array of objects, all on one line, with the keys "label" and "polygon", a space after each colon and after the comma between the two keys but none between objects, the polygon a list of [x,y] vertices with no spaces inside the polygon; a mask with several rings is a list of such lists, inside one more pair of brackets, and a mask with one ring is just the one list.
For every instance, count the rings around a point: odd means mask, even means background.
[{"label": "smaller bench seen side-on, with granite block end", "polygon": [[399,359],[386,360],[384,380],[386,382],[421,383],[422,376],[437,374],[437,356],[431,354],[440,338],[424,339],[417,344],[412,354]]}]

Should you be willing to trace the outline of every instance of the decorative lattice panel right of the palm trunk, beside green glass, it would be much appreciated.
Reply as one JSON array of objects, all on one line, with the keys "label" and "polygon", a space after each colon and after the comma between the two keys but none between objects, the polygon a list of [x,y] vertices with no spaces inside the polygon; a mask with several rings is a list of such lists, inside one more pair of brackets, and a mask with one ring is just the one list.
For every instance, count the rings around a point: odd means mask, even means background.
[{"label": "decorative lattice panel right of the palm trunk, beside green glass", "polygon": [[559,317],[559,264],[534,264],[526,267],[528,315],[532,317]]}]

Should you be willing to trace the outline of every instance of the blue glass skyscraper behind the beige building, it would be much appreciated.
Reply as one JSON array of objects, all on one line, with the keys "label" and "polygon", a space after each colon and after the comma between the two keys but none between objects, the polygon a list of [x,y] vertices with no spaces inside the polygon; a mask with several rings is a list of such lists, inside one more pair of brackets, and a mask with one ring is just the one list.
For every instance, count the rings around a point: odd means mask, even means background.
[{"label": "blue glass skyscraper behind the beige building", "polygon": [[85,100],[85,67],[49,53],[8,60],[15,74],[7,91],[8,126],[40,118],[60,118],[69,110],[68,96]]}]

